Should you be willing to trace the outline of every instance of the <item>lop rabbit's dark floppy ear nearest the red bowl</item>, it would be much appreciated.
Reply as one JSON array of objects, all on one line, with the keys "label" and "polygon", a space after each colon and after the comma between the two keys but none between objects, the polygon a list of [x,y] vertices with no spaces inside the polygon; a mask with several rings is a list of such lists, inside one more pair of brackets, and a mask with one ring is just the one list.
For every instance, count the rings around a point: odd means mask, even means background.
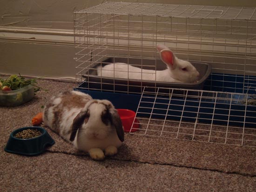
[{"label": "lop rabbit's dark floppy ear nearest the red bowl", "polygon": [[122,121],[120,119],[120,116],[115,108],[110,108],[109,113],[110,113],[111,124],[115,126],[117,136],[121,140],[121,142],[123,142],[124,131],[123,131],[123,126],[122,126]]}]

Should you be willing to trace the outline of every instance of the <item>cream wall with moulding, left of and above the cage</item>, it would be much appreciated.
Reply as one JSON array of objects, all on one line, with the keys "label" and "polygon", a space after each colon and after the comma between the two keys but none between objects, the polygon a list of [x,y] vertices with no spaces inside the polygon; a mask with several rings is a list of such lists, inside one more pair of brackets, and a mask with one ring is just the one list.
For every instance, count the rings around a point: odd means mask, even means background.
[{"label": "cream wall with moulding, left of and above the cage", "polygon": [[[73,12],[104,1],[1,0],[0,73],[74,79]],[[123,0],[123,2],[256,7],[255,0]]]}]

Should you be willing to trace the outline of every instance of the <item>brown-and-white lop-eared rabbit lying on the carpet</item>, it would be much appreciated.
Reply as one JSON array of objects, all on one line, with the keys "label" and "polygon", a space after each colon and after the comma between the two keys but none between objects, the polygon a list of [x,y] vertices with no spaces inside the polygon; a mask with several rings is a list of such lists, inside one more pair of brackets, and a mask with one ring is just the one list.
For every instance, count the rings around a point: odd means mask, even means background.
[{"label": "brown-and-white lop-eared rabbit lying on the carpet", "polygon": [[112,103],[78,91],[53,96],[44,109],[43,121],[94,160],[115,155],[124,141],[121,119]]}]

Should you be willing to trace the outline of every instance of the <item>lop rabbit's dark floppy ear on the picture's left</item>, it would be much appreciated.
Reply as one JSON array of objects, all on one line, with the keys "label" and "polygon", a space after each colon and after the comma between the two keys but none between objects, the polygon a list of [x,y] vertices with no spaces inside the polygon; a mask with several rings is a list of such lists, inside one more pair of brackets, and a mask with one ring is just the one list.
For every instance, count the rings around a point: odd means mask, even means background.
[{"label": "lop rabbit's dark floppy ear on the picture's left", "polygon": [[88,118],[89,118],[88,110],[81,111],[80,113],[77,114],[77,116],[73,120],[71,135],[69,138],[70,141],[74,141],[77,130],[81,127],[81,125],[85,122],[86,119],[88,121]]}]

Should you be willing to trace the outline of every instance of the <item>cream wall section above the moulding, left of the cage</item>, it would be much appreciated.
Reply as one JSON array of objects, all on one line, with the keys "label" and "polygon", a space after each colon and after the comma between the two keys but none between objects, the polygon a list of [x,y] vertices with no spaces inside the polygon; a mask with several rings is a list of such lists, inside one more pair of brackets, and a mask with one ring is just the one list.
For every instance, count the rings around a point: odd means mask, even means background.
[{"label": "cream wall section above the moulding, left of the cage", "polygon": [[74,11],[95,6],[102,1],[1,0],[0,25],[72,29]]}]

